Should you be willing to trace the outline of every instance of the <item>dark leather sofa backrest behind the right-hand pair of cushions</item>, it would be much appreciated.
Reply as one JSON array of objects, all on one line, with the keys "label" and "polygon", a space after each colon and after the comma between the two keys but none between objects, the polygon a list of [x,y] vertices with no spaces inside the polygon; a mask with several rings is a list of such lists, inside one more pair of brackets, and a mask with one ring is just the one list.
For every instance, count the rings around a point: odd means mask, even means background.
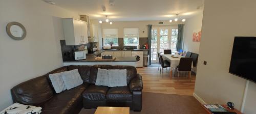
[{"label": "dark leather sofa backrest behind the right-hand pair of cushions", "polygon": [[131,79],[133,79],[137,75],[137,70],[133,66],[94,65],[91,68],[89,83],[95,84],[96,79],[97,79],[98,68],[100,68],[100,69],[126,69],[127,84],[129,84]]}]

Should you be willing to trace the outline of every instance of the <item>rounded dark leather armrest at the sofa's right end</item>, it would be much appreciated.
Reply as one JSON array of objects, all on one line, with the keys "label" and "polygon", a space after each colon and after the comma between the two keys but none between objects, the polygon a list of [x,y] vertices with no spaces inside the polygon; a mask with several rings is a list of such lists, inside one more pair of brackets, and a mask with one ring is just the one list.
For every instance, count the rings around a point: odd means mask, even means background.
[{"label": "rounded dark leather armrest at the sofa's right end", "polygon": [[133,78],[129,84],[130,86],[130,91],[137,91],[137,90],[142,90],[143,89],[143,83],[142,83],[142,77],[140,74],[137,74],[135,78]]}]

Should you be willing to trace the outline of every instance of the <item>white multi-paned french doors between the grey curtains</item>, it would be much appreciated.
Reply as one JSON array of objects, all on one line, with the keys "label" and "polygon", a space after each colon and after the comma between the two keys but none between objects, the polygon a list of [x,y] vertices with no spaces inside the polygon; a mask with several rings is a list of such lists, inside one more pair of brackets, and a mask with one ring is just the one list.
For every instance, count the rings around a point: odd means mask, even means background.
[{"label": "white multi-paned french doors between the grey curtains", "polygon": [[158,62],[158,52],[164,49],[176,51],[178,27],[153,27],[151,39],[151,63]]}]

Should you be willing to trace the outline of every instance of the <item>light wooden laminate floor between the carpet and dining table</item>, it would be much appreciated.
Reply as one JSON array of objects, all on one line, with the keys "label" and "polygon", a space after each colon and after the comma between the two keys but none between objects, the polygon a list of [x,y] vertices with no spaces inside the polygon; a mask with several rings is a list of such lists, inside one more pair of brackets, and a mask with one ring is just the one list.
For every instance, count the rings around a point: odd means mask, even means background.
[{"label": "light wooden laminate floor between the carpet and dining table", "polygon": [[195,75],[191,75],[191,80],[185,73],[170,78],[169,70],[164,69],[163,74],[159,74],[157,67],[137,68],[137,72],[142,75],[143,91],[165,94],[179,94],[192,96],[195,89]]}]

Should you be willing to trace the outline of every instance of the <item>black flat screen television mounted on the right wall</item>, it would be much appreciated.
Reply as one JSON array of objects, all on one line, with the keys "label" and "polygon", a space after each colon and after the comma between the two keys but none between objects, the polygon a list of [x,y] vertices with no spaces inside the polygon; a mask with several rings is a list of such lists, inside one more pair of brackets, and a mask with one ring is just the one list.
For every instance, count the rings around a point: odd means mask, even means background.
[{"label": "black flat screen television mounted on the right wall", "polygon": [[256,37],[234,37],[229,73],[256,82]]}]

